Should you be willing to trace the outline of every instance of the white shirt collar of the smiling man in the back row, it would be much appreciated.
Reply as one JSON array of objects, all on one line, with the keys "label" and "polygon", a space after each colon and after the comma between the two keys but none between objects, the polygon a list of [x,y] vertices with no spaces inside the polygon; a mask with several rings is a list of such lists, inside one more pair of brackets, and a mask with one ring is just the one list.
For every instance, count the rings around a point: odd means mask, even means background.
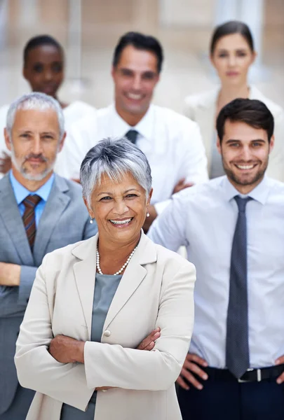
[{"label": "white shirt collar of the smiling man in the back row", "polygon": [[129,130],[137,130],[137,132],[144,137],[145,139],[151,140],[153,137],[153,127],[154,127],[154,105],[150,104],[147,113],[145,113],[144,117],[140,122],[135,125],[134,127],[128,125],[121,116],[116,111],[116,107],[114,104],[111,105],[111,114],[112,114],[112,121],[113,127],[116,137],[124,137]]}]

